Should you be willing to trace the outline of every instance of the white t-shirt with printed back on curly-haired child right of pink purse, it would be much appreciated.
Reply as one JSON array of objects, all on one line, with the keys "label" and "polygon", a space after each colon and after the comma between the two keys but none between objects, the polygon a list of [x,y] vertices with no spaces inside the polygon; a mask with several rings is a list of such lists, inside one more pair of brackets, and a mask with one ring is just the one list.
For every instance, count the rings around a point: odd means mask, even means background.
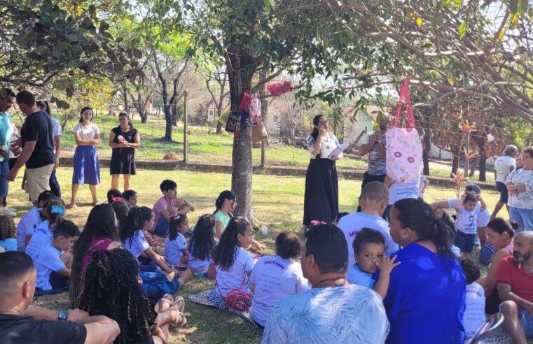
[{"label": "white t-shirt with printed back on curly-haired child right of pink purse", "polygon": [[303,277],[300,263],[279,256],[259,259],[251,273],[250,284],[256,288],[251,300],[251,316],[261,326],[265,326],[277,301],[311,288]]}]

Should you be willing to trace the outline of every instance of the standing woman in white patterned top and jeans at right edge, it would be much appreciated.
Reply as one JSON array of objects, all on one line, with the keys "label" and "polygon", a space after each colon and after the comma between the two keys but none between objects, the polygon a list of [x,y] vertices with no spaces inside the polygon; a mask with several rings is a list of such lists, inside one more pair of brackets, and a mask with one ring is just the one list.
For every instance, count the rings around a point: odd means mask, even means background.
[{"label": "standing woman in white patterned top and jeans at right edge", "polygon": [[533,146],[522,150],[522,162],[505,180],[509,215],[520,224],[520,231],[533,231]]}]

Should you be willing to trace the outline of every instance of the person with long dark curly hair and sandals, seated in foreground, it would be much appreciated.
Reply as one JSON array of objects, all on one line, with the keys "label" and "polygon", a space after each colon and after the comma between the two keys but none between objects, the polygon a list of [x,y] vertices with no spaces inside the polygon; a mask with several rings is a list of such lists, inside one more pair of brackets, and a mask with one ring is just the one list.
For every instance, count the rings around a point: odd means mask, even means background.
[{"label": "person with long dark curly hair and sandals, seated in foreground", "polygon": [[185,301],[171,295],[158,301],[154,313],[138,283],[137,260],[127,250],[99,250],[92,254],[83,275],[79,308],[90,315],[106,315],[118,322],[116,344],[166,344],[169,323],[184,327]]}]

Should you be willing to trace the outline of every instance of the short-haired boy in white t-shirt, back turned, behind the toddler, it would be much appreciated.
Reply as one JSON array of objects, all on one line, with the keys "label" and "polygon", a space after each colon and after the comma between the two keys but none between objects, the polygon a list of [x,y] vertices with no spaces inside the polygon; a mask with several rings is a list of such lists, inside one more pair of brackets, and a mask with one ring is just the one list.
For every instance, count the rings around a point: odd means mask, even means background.
[{"label": "short-haired boy in white t-shirt, back turned, behind the toddler", "polygon": [[348,266],[355,264],[354,242],[355,235],[361,229],[372,228],[385,237],[385,253],[392,255],[398,250],[390,235],[389,223],[381,217],[389,203],[389,190],[382,182],[369,182],[361,191],[359,205],[361,213],[343,216],[338,223],[339,229],[344,233],[348,244]]}]

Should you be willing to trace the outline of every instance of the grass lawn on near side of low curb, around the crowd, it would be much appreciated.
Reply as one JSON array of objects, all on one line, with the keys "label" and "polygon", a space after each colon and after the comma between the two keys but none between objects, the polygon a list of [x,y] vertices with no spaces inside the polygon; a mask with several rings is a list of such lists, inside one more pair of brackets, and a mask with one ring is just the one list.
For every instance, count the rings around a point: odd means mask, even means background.
[{"label": "grass lawn on near side of low curb, around the crowd", "polygon": [[[97,187],[100,201],[105,200],[105,194],[111,185],[108,170],[102,169],[102,184]],[[64,200],[70,201],[70,185],[72,170],[61,167],[57,177],[62,185]],[[193,201],[197,210],[191,213],[190,223],[195,224],[200,215],[213,213],[214,201],[223,189],[230,188],[230,175],[222,173],[195,173],[188,171],[147,171],[139,170],[132,177],[132,187],[139,192],[139,205],[152,206],[161,196],[158,185],[163,179],[173,179],[178,183],[179,196]],[[8,196],[10,206],[18,210],[22,216],[29,208],[27,196],[20,192],[22,171],[17,180],[11,183]],[[266,254],[274,252],[275,236],[279,231],[298,231],[303,216],[303,194],[305,178],[279,177],[276,175],[254,176],[254,214],[259,221],[270,227],[267,236],[256,231],[256,239],[267,246]],[[361,182],[359,180],[339,180],[340,210],[353,212],[357,206],[357,196]],[[496,192],[483,192],[485,201],[490,209],[497,202]],[[427,201],[450,199],[455,197],[452,189],[429,187],[426,193]],[[67,210],[67,218],[83,226],[90,210],[90,191],[88,186],[80,187],[78,192],[78,208]],[[504,213],[501,213],[504,215]],[[18,218],[15,219],[18,222]],[[171,326],[170,343],[259,343],[262,330],[236,315],[226,311],[216,310],[188,301],[188,296],[210,289],[212,281],[196,278],[179,289],[176,294],[186,299],[186,317],[188,325],[185,329]],[[34,301],[38,306],[60,309],[68,304],[67,293],[53,296],[41,296]]]}]

